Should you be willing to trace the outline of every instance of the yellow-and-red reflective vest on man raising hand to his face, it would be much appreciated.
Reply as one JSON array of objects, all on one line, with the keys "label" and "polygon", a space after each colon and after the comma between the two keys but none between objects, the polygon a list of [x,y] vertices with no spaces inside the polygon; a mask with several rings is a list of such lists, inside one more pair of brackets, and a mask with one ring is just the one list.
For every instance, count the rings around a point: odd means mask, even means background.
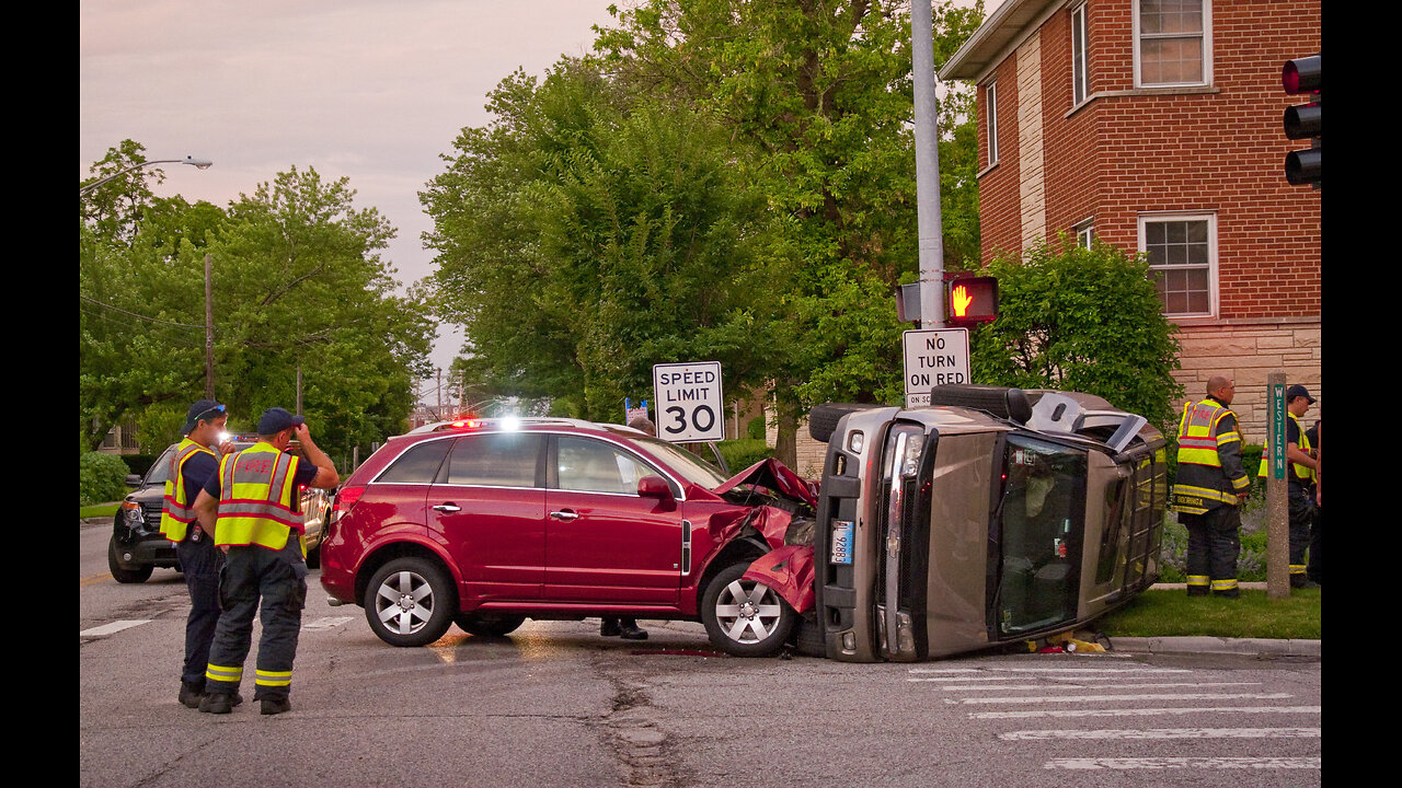
[{"label": "yellow-and-red reflective vest on man raising hand to his face", "polygon": [[301,541],[297,463],[297,457],[262,440],[220,460],[215,544],[282,550],[293,531]]}]

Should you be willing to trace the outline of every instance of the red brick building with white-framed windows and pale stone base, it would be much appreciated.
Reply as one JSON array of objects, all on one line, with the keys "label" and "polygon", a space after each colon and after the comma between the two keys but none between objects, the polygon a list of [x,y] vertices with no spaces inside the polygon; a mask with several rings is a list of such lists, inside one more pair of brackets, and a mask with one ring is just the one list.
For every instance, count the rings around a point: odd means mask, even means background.
[{"label": "red brick building with white-framed windows and pale stone base", "polygon": [[[1005,0],[939,70],[977,86],[984,261],[1068,233],[1144,251],[1190,397],[1266,374],[1321,400],[1321,191],[1291,186],[1281,64],[1319,50],[1319,0]],[[1319,405],[1307,416],[1312,422]]]}]

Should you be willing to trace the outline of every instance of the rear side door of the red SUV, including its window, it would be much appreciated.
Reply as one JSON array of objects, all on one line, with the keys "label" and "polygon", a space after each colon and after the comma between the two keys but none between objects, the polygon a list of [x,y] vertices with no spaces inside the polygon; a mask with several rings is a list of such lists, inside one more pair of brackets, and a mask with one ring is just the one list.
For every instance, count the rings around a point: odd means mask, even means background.
[{"label": "rear side door of the red SUV, including its window", "polygon": [[540,599],[545,564],[545,439],[464,435],[429,491],[430,529],[463,575],[463,607]]}]

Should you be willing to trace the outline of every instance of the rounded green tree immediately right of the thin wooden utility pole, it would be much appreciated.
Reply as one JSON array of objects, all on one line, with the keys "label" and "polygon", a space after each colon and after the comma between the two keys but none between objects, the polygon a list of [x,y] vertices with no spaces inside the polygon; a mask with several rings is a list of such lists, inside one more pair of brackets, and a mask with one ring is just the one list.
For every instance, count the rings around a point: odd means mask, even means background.
[{"label": "rounded green tree immediately right of the thin wooden utility pole", "polygon": [[379,255],[394,229],[353,198],[348,178],[293,167],[230,205],[209,252],[216,388],[231,422],[292,409],[300,373],[324,447],[349,451],[402,429],[435,322],[422,287],[394,293]]}]

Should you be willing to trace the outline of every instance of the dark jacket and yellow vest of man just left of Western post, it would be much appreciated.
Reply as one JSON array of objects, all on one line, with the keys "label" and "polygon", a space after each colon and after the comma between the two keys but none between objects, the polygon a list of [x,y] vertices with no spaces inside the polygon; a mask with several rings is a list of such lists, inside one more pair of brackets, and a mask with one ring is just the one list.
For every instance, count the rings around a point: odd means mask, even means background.
[{"label": "dark jacket and yellow vest of man just left of Western post", "polygon": [[1178,425],[1173,509],[1203,515],[1224,503],[1235,506],[1237,496],[1249,488],[1237,414],[1210,398],[1185,405]]}]

